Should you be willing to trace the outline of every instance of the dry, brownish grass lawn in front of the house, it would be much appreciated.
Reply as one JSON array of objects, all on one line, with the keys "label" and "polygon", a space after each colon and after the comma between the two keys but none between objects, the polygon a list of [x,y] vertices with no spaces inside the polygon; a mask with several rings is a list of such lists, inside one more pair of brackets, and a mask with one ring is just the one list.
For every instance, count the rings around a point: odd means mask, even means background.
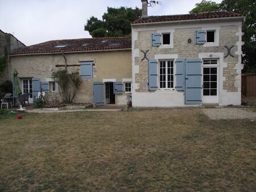
[{"label": "dry, brownish grass lawn in front of the house", "polygon": [[199,108],[0,118],[0,191],[253,191],[256,123]]}]

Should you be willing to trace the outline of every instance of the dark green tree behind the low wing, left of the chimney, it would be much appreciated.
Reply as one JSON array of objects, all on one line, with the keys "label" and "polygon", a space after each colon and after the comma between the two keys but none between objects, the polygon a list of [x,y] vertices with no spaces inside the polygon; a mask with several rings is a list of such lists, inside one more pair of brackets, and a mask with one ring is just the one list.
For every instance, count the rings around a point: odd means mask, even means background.
[{"label": "dark green tree behind the low wing, left of the chimney", "polygon": [[142,10],[127,7],[108,7],[108,12],[102,15],[102,20],[92,16],[84,26],[92,37],[130,36],[131,22],[140,18]]}]

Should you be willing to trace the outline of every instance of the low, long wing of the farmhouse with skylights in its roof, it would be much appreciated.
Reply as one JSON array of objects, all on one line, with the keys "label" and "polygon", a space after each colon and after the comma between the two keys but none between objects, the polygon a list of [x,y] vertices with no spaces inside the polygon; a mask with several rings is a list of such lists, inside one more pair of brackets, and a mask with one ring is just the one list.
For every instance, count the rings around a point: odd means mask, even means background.
[{"label": "low, long wing of the farmhouse with skylights in its roof", "polygon": [[126,105],[131,93],[131,37],[47,41],[12,52],[10,63],[30,102],[41,89],[49,103],[61,102],[51,77],[65,66],[82,78],[75,103]]}]

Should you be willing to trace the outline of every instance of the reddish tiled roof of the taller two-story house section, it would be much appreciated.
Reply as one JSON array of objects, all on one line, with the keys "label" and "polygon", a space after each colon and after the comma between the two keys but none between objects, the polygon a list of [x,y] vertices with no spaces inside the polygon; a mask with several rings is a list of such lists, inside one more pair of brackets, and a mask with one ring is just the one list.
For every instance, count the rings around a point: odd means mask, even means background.
[{"label": "reddish tiled roof of the taller two-story house section", "polygon": [[163,16],[148,16],[146,18],[139,18],[135,20],[135,23],[154,23],[154,22],[170,22],[178,20],[193,20],[193,19],[212,19],[212,18],[229,18],[243,16],[242,14],[228,11],[212,11],[212,12],[200,12],[197,14],[185,14],[185,15],[163,15]]}]

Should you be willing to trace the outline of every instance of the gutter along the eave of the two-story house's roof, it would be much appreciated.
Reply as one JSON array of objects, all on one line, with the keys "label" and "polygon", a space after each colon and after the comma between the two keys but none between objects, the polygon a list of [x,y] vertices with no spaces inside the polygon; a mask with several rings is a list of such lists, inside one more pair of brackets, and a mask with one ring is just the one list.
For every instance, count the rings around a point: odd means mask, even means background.
[{"label": "gutter along the eave of the two-story house's roof", "polygon": [[171,20],[168,22],[148,22],[148,23],[134,23],[131,26],[142,26],[142,25],[150,25],[150,24],[168,24],[168,23],[188,23],[188,22],[202,22],[202,21],[212,21],[212,20],[230,20],[230,19],[243,19],[245,21],[245,16],[236,16],[236,17],[228,17],[228,18],[210,18],[210,19],[189,19],[189,20]]}]

